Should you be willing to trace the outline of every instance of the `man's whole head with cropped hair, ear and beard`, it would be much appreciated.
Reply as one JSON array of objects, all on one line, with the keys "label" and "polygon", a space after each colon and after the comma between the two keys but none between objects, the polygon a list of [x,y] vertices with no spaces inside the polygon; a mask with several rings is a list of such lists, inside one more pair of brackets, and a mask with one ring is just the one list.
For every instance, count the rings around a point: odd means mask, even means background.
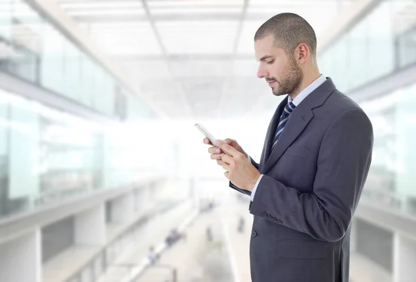
[{"label": "man's whole head with cropped hair, ear and beard", "polygon": [[268,19],[254,35],[257,77],[266,78],[274,95],[297,93],[316,66],[316,35],[299,15],[282,13]]}]

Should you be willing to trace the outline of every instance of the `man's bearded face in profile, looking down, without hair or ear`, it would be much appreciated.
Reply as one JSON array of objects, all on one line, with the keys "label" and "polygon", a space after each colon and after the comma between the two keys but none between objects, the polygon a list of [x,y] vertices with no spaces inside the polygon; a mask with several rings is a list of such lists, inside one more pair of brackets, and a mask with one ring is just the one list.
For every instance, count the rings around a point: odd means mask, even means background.
[{"label": "man's bearded face in profile, looking down, without hair or ear", "polygon": [[295,93],[302,83],[302,69],[293,56],[287,56],[275,45],[273,35],[254,41],[256,59],[259,62],[257,77],[265,78],[276,96]]}]

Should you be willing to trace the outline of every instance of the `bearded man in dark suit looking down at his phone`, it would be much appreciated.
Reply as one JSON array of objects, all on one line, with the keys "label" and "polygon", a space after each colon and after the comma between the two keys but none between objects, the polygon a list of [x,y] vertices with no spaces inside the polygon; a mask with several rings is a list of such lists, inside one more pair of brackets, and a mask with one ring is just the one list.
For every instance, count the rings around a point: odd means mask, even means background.
[{"label": "bearded man in dark suit looking down at his phone", "polygon": [[[235,140],[209,148],[230,187],[251,197],[252,282],[347,282],[352,216],[370,167],[367,115],[320,74],[316,37],[283,13],[257,30],[257,76],[277,107],[259,164]],[[204,140],[210,144],[209,140]]]}]

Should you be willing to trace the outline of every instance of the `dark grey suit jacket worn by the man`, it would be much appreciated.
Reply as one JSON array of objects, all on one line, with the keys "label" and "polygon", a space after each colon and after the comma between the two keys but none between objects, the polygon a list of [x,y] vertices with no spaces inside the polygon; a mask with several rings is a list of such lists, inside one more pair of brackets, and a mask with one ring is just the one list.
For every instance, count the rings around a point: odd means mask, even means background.
[{"label": "dark grey suit jacket worn by the man", "polygon": [[263,174],[250,203],[252,282],[347,282],[372,124],[327,78],[295,108],[270,151],[286,104],[287,97],[270,122],[260,164],[252,160]]}]

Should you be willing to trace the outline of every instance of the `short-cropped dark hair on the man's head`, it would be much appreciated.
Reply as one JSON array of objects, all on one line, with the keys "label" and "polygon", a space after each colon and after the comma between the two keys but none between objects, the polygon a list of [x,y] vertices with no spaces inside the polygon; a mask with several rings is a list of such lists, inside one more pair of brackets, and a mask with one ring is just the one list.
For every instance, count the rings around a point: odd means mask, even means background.
[{"label": "short-cropped dark hair on the man's head", "polygon": [[312,26],[300,15],[284,12],[268,19],[254,35],[254,41],[268,35],[275,36],[275,44],[283,48],[287,55],[293,55],[295,48],[304,43],[316,56],[316,35]]}]

